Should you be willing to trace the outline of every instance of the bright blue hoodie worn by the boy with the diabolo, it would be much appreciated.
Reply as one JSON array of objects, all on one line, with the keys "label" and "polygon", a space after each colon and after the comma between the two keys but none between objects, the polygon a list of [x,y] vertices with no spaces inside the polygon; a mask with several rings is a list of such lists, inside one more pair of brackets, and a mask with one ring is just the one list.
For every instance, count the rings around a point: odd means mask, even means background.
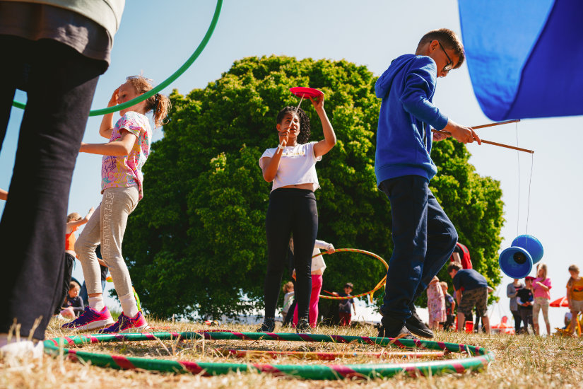
[{"label": "bright blue hoodie worn by the boy with the diabolo", "polygon": [[430,157],[430,126],[443,129],[447,117],[431,103],[436,81],[433,59],[405,54],[394,59],[375,83],[377,98],[382,98],[375,156],[377,186],[404,175],[431,180],[437,173]]}]

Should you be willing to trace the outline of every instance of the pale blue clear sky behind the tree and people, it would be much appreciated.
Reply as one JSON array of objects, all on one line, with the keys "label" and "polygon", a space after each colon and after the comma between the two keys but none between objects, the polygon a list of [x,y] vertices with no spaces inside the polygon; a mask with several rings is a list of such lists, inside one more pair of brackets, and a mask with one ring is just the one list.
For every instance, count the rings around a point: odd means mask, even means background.
[{"label": "pale blue clear sky behind the tree and people", "polygon": [[[170,76],[199,44],[214,7],[213,0],[126,1],[122,25],[115,37],[112,64],[100,78],[93,108],[105,107],[112,91],[126,76],[143,72],[155,83]],[[225,0],[206,50],[164,93],[172,88],[182,94],[204,88],[228,71],[236,59],[270,54],[298,59],[347,59],[367,66],[379,76],[391,59],[414,52],[424,33],[442,27],[461,34],[457,1],[298,0],[284,4],[273,0]],[[25,100],[25,94],[18,92],[16,98]],[[461,124],[490,122],[473,95],[466,65],[438,81],[434,103],[445,115]],[[3,189],[8,189],[10,183],[21,118],[22,111],[13,108],[0,153],[0,187]],[[104,141],[98,135],[100,120],[100,117],[89,119],[84,141]],[[543,262],[549,265],[553,299],[565,295],[569,277],[567,267],[572,263],[583,265],[582,255],[572,254],[572,242],[577,242],[582,235],[578,221],[583,219],[583,210],[575,202],[577,195],[583,192],[577,158],[579,142],[575,141],[582,127],[582,117],[560,117],[523,120],[517,126],[507,124],[478,130],[484,139],[500,143],[516,144],[518,137],[519,146],[535,151],[530,187],[529,154],[517,156],[515,151],[495,146],[468,146],[472,154],[470,162],[476,171],[499,180],[502,186],[506,219],[502,249],[510,245],[514,237],[526,232],[529,209],[528,233],[543,243]],[[341,129],[336,129],[336,134],[341,139]],[[156,130],[154,139],[161,137],[163,130]],[[100,161],[99,156],[79,155],[69,211],[83,214],[99,204]],[[147,196],[147,176],[145,190]],[[0,202],[0,213],[3,210],[4,204]],[[82,278],[81,266],[76,267],[74,275]],[[505,297],[506,284],[510,281],[504,277],[498,288],[502,300],[500,306],[493,308],[496,316],[510,314]],[[551,326],[562,326],[565,311],[565,308],[550,308]]]}]

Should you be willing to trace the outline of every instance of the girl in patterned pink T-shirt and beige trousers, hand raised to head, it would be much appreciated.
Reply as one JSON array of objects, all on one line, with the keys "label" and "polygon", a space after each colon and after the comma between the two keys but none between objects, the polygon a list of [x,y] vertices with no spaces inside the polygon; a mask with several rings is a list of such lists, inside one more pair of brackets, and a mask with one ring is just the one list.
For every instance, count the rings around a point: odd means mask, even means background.
[{"label": "girl in patterned pink T-shirt and beige trousers, hand raised to head", "polygon": [[[152,89],[148,79],[131,76],[112,94],[109,107],[136,98]],[[110,139],[107,144],[81,144],[81,151],[102,154],[101,187],[103,199],[75,245],[83,265],[89,306],[83,314],[64,328],[93,330],[110,325],[101,332],[126,332],[147,326],[138,310],[129,272],[122,256],[122,240],[127,218],[143,197],[141,168],[150,153],[152,130],[146,112],[153,110],[156,127],[163,124],[170,100],[156,94],[130,108],[119,111],[121,118],[113,124],[113,114],[104,115],[99,133]],[[107,221],[107,223],[106,223]],[[110,269],[114,288],[122,305],[122,314],[113,323],[110,311],[103,303],[100,267],[95,247],[101,243],[101,255]]]}]

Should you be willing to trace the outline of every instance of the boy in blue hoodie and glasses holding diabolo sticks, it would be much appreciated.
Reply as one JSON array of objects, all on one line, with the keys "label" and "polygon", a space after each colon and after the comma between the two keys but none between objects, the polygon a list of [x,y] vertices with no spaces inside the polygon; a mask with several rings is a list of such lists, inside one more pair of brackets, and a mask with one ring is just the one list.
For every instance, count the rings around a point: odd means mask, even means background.
[{"label": "boy in blue hoodie and glasses holding diabolo sticks", "polygon": [[[457,232],[429,190],[437,173],[431,160],[431,127],[462,143],[480,138],[449,120],[432,104],[437,77],[464,62],[464,46],[452,30],[425,34],[415,54],[401,55],[375,84],[382,98],[377,130],[377,186],[391,203],[393,255],[381,312],[379,337],[433,337],[416,314],[414,301],[454,251]],[[447,135],[446,137],[449,137]],[[411,332],[409,332],[411,331]]]}]

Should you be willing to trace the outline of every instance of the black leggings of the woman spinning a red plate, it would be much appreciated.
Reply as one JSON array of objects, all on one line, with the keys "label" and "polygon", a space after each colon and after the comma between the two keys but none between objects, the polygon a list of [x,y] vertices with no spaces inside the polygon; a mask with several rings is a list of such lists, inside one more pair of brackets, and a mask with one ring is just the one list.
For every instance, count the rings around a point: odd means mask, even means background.
[{"label": "black leggings of the woman spinning a red plate", "polygon": [[287,263],[290,236],[293,235],[295,301],[298,301],[298,318],[307,319],[312,293],[312,252],[318,233],[314,192],[292,188],[273,190],[269,195],[265,230],[268,255],[264,286],[265,317],[276,315],[281,277]]}]

